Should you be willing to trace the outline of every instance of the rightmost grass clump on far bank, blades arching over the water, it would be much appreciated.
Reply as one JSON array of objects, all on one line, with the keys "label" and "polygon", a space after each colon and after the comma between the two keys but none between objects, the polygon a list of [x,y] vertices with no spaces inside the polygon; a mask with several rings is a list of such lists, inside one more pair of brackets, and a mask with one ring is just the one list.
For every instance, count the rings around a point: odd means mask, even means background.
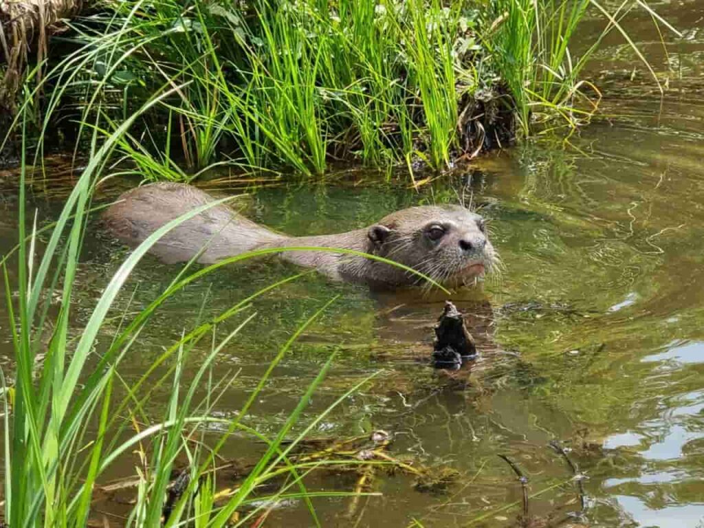
[{"label": "rightmost grass clump on far bank, blades arching over the water", "polygon": [[[556,121],[569,131],[589,121],[598,109],[601,92],[582,74],[610,32],[622,34],[660,86],[624,23],[635,7],[650,13],[652,8],[645,2],[623,2],[612,11],[596,0],[496,0],[490,5],[491,9],[484,13],[489,29],[482,42],[508,86],[524,136],[531,134],[536,124],[541,125],[539,130],[544,130],[546,122]],[[579,37],[580,24],[589,14],[598,15],[606,23],[593,42],[579,43],[577,54],[574,41]],[[667,27],[674,30],[670,25]]]}]

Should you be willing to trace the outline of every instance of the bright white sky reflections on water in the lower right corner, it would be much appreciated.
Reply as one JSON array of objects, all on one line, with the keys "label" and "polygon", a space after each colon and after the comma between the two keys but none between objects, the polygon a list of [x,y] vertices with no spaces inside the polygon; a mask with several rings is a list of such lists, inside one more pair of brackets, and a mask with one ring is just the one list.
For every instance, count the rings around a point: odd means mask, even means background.
[{"label": "bright white sky reflections on water in the lower right corner", "polygon": [[[641,363],[652,367],[650,381],[659,386],[677,386],[688,372],[704,363],[701,341],[672,341],[664,351],[644,356]],[[604,441],[610,450],[627,449],[641,460],[642,470],[629,477],[607,478],[603,489],[619,508],[639,526],[704,526],[704,494],[698,472],[687,470],[704,453],[704,391],[662,394],[658,417],[634,425],[628,432]],[[686,504],[682,498],[686,496]]]}]

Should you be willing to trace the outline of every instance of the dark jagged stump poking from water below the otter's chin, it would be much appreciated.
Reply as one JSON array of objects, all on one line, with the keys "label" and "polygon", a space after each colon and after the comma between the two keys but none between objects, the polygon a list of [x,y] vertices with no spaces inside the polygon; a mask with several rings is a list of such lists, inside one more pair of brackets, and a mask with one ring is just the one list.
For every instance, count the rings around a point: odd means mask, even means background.
[{"label": "dark jagged stump poking from water below the otter's chin", "polygon": [[435,327],[433,362],[438,368],[458,369],[463,362],[477,357],[474,338],[467,330],[465,318],[450,301]]}]

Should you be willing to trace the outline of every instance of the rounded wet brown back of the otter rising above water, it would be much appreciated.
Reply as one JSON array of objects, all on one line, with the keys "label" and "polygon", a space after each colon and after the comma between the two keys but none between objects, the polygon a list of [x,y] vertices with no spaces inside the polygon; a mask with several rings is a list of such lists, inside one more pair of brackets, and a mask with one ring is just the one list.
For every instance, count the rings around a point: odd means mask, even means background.
[{"label": "rounded wet brown back of the otter rising above water", "polygon": [[[103,221],[120,241],[134,247],[171,220],[213,201],[189,185],[149,184],[122,194]],[[283,238],[221,204],[182,222],[150,251],[165,263],[184,262],[203,251],[198,261],[210,264]]]}]

